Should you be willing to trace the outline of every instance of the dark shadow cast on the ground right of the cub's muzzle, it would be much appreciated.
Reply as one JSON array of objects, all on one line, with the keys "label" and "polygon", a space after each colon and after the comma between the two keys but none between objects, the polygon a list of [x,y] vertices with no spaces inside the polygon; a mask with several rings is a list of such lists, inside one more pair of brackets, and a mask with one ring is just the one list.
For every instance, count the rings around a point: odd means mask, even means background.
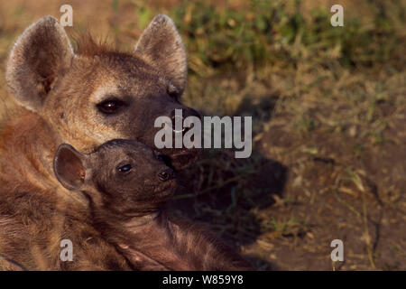
[{"label": "dark shadow cast on the ground right of the cub's muzzle", "polygon": [[[247,99],[235,116],[252,116],[257,126],[272,117],[276,99],[263,98],[255,104]],[[283,164],[255,149],[246,159],[235,159],[234,152],[226,149],[204,150],[196,165],[180,172],[180,186],[171,211],[214,230],[235,248],[246,247],[263,232],[257,212],[269,209],[275,196],[282,198],[287,174]],[[277,269],[269,260],[245,257],[258,269]]]}]

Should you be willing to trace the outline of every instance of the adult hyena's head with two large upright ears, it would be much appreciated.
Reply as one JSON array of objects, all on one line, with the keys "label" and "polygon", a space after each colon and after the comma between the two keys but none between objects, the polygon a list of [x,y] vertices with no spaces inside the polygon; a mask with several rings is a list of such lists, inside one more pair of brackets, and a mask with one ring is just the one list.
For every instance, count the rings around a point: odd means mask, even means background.
[{"label": "adult hyena's head with two large upright ears", "polygon": [[[38,113],[63,142],[89,152],[114,138],[154,147],[157,117],[198,113],[180,104],[187,79],[186,52],[174,23],[158,15],[134,51],[118,52],[90,38],[73,51],[58,21],[46,16],[20,36],[7,63],[14,98]],[[180,169],[197,149],[161,150]]]}]

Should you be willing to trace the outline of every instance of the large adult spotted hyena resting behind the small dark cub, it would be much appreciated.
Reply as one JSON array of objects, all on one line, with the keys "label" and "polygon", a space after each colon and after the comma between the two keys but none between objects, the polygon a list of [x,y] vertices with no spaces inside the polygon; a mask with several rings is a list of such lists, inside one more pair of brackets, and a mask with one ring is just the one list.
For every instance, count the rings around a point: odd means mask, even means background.
[{"label": "large adult spotted hyena resting behind the small dark cub", "polygon": [[[64,189],[52,172],[61,143],[88,153],[113,138],[153,147],[156,117],[197,115],[180,104],[186,53],[171,19],[158,15],[131,52],[90,38],[73,51],[51,16],[33,23],[10,53],[6,82],[24,108],[0,131],[0,254],[28,269],[131,269],[91,224],[88,200]],[[196,150],[164,149],[175,168]],[[73,261],[60,260],[60,240]],[[1,266],[1,264],[0,264]],[[5,266],[7,267],[7,266]]]}]

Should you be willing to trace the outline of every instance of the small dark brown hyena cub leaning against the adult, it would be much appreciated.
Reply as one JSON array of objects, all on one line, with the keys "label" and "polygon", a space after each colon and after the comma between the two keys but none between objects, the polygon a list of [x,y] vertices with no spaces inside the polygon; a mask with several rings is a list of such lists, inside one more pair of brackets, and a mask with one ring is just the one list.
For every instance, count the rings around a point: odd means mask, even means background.
[{"label": "small dark brown hyena cub leaning against the adult", "polygon": [[210,233],[161,210],[176,189],[175,174],[144,144],[112,140],[91,154],[61,144],[54,172],[89,200],[95,227],[136,270],[249,270]]}]

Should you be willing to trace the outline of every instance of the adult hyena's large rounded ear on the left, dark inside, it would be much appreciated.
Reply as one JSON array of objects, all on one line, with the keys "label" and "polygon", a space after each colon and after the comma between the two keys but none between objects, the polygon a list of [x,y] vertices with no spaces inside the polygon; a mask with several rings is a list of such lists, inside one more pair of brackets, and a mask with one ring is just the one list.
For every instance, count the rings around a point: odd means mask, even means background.
[{"label": "adult hyena's large rounded ear on the left, dark inside", "polygon": [[5,72],[10,92],[24,107],[38,110],[73,55],[58,20],[42,17],[23,32],[10,53]]}]

